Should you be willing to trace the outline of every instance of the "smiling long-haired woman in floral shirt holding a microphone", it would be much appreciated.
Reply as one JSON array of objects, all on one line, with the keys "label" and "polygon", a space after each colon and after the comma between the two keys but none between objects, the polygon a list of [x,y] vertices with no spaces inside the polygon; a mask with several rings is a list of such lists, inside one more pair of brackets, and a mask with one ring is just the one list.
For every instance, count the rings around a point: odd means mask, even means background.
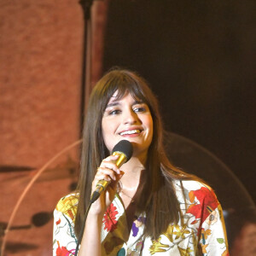
[{"label": "smiling long-haired woman in floral shirt holding a microphone", "polygon": [[[94,88],[84,125],[78,193],[55,209],[54,255],[228,255],[222,209],[212,189],[167,160],[158,104],[136,73],[113,70]],[[131,160],[110,155],[128,140]],[[110,156],[109,156],[110,155]],[[111,181],[84,212],[99,180]]]}]

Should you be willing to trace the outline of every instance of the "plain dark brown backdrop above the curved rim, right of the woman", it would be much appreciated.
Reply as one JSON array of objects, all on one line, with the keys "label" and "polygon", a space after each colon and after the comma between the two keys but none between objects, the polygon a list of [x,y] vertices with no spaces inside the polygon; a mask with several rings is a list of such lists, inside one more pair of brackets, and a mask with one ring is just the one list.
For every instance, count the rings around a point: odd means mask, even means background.
[{"label": "plain dark brown backdrop above the curved rim, right of the woman", "polygon": [[112,0],[103,69],[147,79],[166,131],[210,150],[255,201],[254,17],[254,1]]}]

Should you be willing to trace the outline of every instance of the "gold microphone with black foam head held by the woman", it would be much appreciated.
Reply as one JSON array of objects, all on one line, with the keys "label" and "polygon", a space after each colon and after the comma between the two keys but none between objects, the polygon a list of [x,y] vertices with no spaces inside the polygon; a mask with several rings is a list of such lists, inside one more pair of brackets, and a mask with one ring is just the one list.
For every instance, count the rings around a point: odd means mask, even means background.
[{"label": "gold microphone with black foam head held by the woman", "polygon": [[[113,162],[118,167],[122,166],[128,160],[131,159],[132,151],[133,151],[132,145],[129,141],[126,141],[126,140],[119,141],[119,143],[117,143],[112,150],[112,155],[119,155],[119,158],[117,160],[114,160]],[[102,179],[96,184],[96,190],[93,192],[93,194],[90,197],[91,203],[93,203],[100,197],[102,192],[105,189],[107,189],[109,183],[110,181],[106,181]]]}]

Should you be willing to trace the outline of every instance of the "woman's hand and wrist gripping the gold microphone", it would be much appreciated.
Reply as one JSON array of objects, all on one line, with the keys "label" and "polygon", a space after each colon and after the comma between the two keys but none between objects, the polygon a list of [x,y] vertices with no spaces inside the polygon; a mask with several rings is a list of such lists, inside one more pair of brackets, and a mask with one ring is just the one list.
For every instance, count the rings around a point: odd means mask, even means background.
[{"label": "woman's hand and wrist gripping the gold microphone", "polygon": [[90,213],[96,215],[103,215],[107,208],[113,201],[114,195],[117,190],[117,183],[123,176],[123,172],[119,170],[119,167],[115,165],[114,161],[119,158],[118,155],[110,155],[106,159],[102,160],[101,165],[98,167],[96,176],[92,182],[92,193],[96,190],[96,184],[100,180],[109,181],[108,188],[102,195],[96,200],[90,208]]}]

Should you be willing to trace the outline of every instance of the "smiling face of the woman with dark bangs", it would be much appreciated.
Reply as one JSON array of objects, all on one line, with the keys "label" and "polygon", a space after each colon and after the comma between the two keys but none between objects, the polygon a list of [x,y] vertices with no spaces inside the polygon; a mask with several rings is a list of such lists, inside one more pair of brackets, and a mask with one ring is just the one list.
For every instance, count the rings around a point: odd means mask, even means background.
[{"label": "smiling face of the woman with dark bangs", "polygon": [[153,137],[153,119],[148,105],[135,100],[130,93],[108,102],[102,117],[102,136],[111,152],[114,145],[125,139],[133,146],[133,155],[146,154]]}]

